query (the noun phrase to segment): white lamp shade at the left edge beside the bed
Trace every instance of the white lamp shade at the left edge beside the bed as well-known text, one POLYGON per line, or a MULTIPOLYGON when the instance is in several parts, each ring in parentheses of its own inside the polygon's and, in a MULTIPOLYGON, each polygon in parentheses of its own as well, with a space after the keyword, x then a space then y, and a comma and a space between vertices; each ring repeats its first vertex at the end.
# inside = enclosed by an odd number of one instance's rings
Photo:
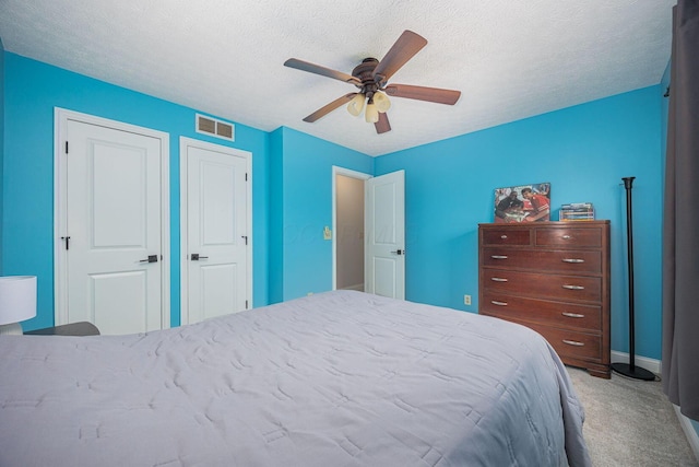
POLYGON ((0 325, 36 316, 36 276, 0 277, 0 325))

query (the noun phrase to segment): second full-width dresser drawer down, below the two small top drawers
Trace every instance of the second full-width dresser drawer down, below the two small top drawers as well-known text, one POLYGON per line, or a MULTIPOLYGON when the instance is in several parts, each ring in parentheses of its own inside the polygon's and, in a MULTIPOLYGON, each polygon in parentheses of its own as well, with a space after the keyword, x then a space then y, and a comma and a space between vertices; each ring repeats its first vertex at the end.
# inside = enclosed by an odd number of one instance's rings
POLYGON ((583 276, 540 275, 503 269, 483 269, 485 291, 499 291, 513 295, 548 297, 600 303, 602 278, 583 276))

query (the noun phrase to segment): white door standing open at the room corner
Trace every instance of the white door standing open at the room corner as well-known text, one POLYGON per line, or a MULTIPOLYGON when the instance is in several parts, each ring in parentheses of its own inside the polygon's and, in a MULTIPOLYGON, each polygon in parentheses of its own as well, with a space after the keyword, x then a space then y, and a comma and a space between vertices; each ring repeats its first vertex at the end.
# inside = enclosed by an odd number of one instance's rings
POLYGON ((405 299, 405 171, 365 187, 365 291, 405 299))

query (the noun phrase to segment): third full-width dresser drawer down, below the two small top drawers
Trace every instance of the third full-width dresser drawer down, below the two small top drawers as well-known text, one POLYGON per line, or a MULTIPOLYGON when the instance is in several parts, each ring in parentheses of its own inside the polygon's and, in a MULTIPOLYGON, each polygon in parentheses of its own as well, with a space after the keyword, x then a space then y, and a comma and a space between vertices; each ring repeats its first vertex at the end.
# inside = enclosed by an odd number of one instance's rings
POLYGON ((528 299, 494 291, 483 293, 479 307, 486 314, 497 314, 505 319, 523 318, 589 332, 599 332, 602 319, 600 305, 528 299))

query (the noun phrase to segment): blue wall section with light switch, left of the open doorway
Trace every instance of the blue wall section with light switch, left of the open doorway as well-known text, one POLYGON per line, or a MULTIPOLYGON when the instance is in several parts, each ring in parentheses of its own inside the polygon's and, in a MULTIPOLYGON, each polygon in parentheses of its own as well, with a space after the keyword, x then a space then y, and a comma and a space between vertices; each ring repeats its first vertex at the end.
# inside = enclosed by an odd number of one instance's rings
POLYGON ((272 302, 332 289, 332 166, 374 173, 375 159, 347 148, 280 128, 272 136, 274 219, 272 302))

